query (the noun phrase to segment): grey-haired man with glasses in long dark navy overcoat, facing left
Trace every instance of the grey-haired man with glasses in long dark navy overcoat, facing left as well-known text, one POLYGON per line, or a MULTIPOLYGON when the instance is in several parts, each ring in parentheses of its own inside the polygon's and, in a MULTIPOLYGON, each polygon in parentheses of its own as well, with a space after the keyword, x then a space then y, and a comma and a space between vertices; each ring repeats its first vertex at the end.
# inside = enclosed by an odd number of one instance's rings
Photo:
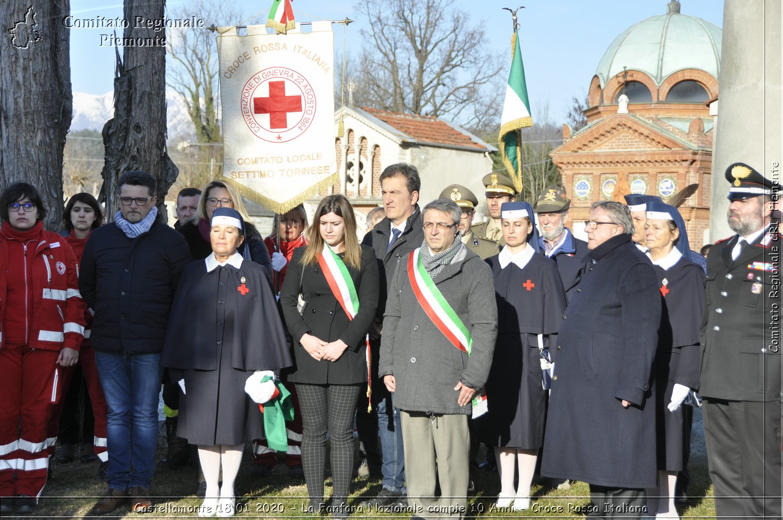
POLYGON ((563 313, 542 475, 590 484, 588 516, 640 517, 657 484, 655 392, 661 294, 618 202, 593 204, 590 253, 563 313))

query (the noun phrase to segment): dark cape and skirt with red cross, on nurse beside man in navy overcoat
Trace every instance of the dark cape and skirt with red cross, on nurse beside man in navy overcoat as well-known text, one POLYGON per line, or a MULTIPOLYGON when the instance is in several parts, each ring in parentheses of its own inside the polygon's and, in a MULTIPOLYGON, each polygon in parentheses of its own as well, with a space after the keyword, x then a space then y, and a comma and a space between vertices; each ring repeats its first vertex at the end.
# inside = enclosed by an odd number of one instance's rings
POLYGON ((537 253, 525 269, 514 263, 501 269, 498 255, 485 262, 495 280, 497 341, 486 384, 489 417, 482 428, 494 446, 536 449, 543 443, 547 410, 538 334, 545 347, 554 348, 565 309, 563 284, 557 265, 537 253))

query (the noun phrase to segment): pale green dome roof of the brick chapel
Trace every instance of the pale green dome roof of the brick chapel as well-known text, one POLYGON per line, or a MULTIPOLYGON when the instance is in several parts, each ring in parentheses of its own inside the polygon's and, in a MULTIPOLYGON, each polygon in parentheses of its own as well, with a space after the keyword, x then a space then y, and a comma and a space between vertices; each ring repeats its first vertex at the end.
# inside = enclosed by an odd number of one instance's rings
POLYGON ((666 10, 628 27, 609 45, 595 71, 601 88, 622 67, 644 71, 656 85, 681 69, 701 69, 718 78, 720 27, 680 14, 677 1, 669 2, 666 10))

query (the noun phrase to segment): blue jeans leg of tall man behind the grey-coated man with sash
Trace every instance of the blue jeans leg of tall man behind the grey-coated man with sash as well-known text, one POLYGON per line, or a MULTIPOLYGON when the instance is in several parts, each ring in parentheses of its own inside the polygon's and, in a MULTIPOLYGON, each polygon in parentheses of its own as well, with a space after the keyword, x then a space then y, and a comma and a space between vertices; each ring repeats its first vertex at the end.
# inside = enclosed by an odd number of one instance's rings
POLYGON ((394 407, 394 392, 378 403, 378 435, 381 437, 383 486, 388 491, 405 493, 405 452, 402 450, 402 426, 394 407))

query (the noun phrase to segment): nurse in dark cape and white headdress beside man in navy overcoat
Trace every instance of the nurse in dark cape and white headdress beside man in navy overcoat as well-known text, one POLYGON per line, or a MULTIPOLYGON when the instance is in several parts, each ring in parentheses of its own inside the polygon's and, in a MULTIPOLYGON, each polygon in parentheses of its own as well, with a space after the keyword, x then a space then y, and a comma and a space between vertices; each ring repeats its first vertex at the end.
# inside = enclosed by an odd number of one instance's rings
POLYGON ((486 260, 495 279, 498 327, 485 424, 494 430, 500 473, 496 507, 523 511, 530 507, 530 486, 543 446, 548 374, 543 374, 541 361, 550 361, 550 348, 554 350, 565 291, 557 264, 539 250, 532 206, 507 202, 500 211, 506 245, 486 260))

